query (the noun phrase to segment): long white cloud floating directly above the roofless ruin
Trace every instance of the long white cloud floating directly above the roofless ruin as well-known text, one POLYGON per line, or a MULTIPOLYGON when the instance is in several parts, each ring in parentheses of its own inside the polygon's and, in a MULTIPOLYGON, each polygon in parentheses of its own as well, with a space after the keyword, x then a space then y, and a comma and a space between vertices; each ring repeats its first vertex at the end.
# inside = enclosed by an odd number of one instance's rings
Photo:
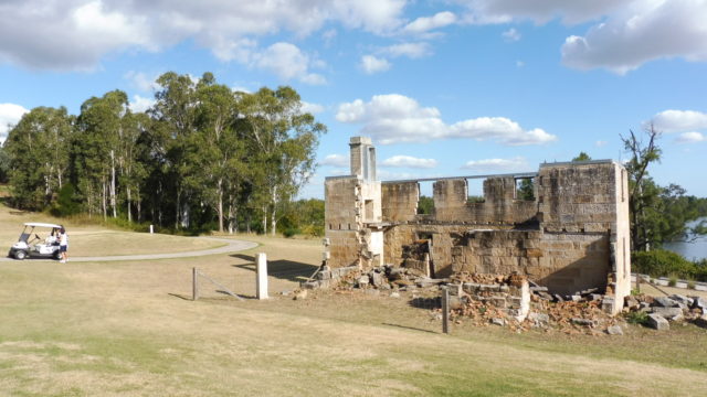
POLYGON ((369 103, 356 99, 341 104, 336 119, 362 124, 360 133, 374 137, 381 144, 452 138, 494 140, 506 146, 557 140, 556 136, 542 129, 525 130, 505 117, 479 117, 447 125, 436 108, 421 107, 416 100, 399 94, 376 95, 369 103))

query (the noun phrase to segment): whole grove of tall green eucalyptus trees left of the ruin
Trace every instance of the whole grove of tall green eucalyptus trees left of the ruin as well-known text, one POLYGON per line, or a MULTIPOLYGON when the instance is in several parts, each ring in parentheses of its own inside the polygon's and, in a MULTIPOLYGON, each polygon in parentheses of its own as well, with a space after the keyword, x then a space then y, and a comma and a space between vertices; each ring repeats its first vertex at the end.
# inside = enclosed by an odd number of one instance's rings
MULTIPOLYGON (((314 173, 326 127, 302 111, 291 87, 234 93, 211 73, 196 81, 168 72, 157 83, 145 114, 112 90, 84 101, 77 117, 42 107, 24 115, 0 149, 10 204, 66 215, 80 203, 104 222, 191 234, 226 226, 274 232, 300 205, 293 200, 314 173), (61 196, 66 183, 73 193, 61 196)), ((323 235, 320 206, 320 219, 305 205, 309 215, 291 228, 323 235)))

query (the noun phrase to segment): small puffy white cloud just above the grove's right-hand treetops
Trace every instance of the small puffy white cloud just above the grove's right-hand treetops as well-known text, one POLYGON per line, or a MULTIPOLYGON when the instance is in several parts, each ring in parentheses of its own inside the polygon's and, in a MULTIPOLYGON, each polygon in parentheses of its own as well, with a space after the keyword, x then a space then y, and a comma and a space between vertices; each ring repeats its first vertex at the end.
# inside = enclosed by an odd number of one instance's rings
POLYGON ((297 78, 303 83, 321 85, 326 83, 324 76, 310 73, 313 60, 291 43, 275 43, 260 54, 254 54, 253 64, 270 69, 282 79, 297 78))

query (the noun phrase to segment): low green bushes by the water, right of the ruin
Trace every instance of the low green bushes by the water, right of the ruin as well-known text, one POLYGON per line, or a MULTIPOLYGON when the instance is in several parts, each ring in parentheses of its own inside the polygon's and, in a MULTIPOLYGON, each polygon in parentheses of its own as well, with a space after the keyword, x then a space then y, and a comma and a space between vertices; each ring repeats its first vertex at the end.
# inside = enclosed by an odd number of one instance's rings
POLYGON ((692 262, 680 255, 664 249, 635 251, 631 255, 634 271, 651 277, 682 278, 707 281, 707 270, 700 262, 692 262))

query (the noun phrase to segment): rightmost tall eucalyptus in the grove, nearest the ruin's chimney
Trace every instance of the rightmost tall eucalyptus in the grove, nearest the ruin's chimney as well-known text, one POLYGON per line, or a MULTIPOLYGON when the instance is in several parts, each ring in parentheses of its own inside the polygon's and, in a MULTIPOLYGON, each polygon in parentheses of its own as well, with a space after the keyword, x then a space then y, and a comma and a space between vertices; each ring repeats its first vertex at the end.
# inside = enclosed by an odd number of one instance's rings
POLYGON ((255 149, 252 159, 262 168, 263 228, 275 234, 283 208, 296 196, 315 168, 315 151, 326 127, 302 111, 299 94, 291 87, 261 88, 244 95, 241 114, 255 149))

